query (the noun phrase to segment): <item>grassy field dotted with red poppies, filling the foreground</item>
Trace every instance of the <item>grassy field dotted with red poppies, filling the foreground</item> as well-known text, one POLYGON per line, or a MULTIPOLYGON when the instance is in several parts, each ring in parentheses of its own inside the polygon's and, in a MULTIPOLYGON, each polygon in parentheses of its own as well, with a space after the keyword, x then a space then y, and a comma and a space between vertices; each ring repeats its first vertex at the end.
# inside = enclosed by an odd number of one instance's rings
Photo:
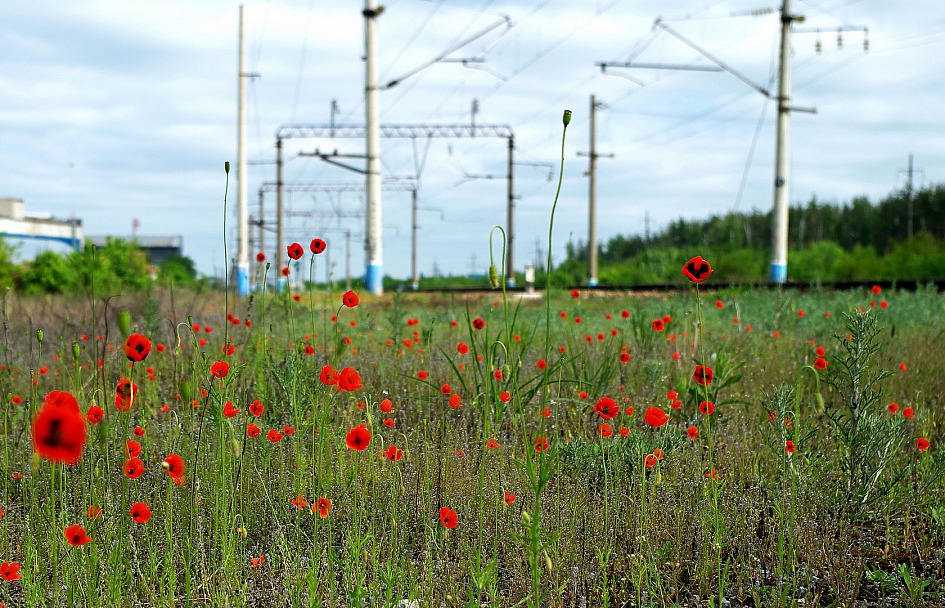
POLYGON ((945 301, 711 282, 9 296, 0 602, 941 604, 945 301))

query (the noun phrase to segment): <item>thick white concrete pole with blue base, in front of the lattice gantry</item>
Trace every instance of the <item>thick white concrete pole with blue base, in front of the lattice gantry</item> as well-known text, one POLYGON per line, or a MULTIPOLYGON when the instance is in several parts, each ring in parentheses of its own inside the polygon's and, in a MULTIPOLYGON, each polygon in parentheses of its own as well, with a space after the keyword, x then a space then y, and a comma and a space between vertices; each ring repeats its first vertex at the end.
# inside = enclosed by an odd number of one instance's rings
POLYGON ((377 95, 377 17, 383 8, 374 0, 364 0, 364 124, 367 140, 367 226, 364 253, 367 269, 364 283, 368 291, 384 293, 383 252, 381 241, 381 135, 377 95))

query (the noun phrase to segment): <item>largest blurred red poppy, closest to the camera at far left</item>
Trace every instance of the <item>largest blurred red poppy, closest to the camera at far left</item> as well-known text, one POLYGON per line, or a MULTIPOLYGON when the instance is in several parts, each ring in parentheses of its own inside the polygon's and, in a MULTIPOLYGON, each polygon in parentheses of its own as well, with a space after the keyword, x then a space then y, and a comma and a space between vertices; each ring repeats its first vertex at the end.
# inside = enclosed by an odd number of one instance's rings
POLYGON ((87 430, 75 397, 52 391, 33 419, 33 449, 51 462, 76 464, 85 449, 87 430))

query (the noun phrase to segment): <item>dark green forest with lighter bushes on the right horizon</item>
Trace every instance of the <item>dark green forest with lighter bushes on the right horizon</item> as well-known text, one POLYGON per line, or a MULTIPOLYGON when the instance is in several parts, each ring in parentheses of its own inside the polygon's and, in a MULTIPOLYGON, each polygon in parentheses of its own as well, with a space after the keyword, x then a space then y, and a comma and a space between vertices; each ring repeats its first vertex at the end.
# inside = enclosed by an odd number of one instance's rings
MULTIPOLYGON (((765 282, 771 211, 678 219, 658 233, 617 236, 598 249, 601 285, 676 283, 679 260, 699 254, 727 282, 765 282)), ((945 277, 945 186, 899 191, 878 203, 816 198, 789 211, 788 279, 795 282, 945 277), (911 227, 910 227, 911 209, 911 227)), ((568 247, 558 284, 587 282, 587 243, 568 247)))

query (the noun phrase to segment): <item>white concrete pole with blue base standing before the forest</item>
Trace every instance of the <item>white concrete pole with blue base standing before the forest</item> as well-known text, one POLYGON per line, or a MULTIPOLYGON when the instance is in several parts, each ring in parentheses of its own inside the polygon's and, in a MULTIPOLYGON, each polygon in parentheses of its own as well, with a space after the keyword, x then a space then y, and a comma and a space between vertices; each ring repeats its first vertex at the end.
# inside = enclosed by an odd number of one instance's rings
POLYGON ((791 170, 791 0, 781 5, 781 59, 778 70, 778 130, 774 154, 774 213, 771 227, 772 283, 787 281, 788 179, 791 170))

